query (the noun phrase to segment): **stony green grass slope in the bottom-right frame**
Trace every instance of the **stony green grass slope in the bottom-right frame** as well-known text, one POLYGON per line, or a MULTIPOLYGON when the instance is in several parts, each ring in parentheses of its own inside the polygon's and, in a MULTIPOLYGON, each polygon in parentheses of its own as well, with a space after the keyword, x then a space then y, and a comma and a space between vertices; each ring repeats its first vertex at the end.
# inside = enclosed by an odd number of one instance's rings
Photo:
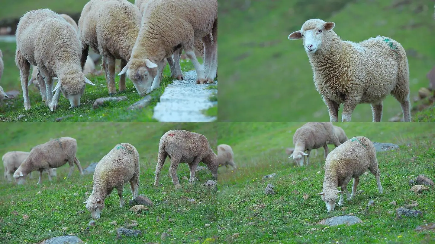
MULTIPOLYGON (((434 179, 435 130, 431 123, 348 123, 336 125, 345 129, 349 138, 364 135, 373 141, 400 145, 392 152, 377 154, 384 194, 379 194, 375 177, 361 176, 357 194, 346 201, 348 209, 327 214, 320 196, 323 185, 323 150, 314 152, 310 165, 294 166, 285 154, 292 147, 292 135, 303 123, 219 123, 218 144, 229 144, 235 154, 237 171, 219 172, 221 202, 219 237, 223 243, 433 243, 435 232, 416 233, 413 229, 433 222, 435 218, 434 189, 416 196, 408 191, 408 180, 425 174, 434 179), (409 144, 409 146, 408 146, 409 144), (418 158, 411 161, 412 156, 418 158), (318 171, 321 173, 316 174, 318 171), (277 177, 261 182, 261 177, 276 173, 277 177), (264 195, 268 183, 276 195, 264 195), (297 190, 299 193, 294 193, 297 190), (304 200, 302 196, 308 194, 304 200), (369 200, 375 206, 366 208, 369 200), (388 204, 397 201, 398 206, 388 204), (396 220, 388 211, 410 201, 423 218, 396 220), (257 207, 253 205, 257 204, 257 207), (264 204, 264 205, 261 205, 264 204), (263 207, 263 208, 261 208, 263 207), (365 224, 325 228, 317 222, 335 215, 353 213, 365 224), (316 228, 318 230, 311 230, 316 228), (324 229, 324 230, 322 230, 324 229), (232 237, 240 233, 239 237, 232 237), (410 241, 412 240, 412 241, 410 241)), ((330 147, 330 152, 334 147, 330 147)), ((348 189, 351 188, 351 183, 348 189)))

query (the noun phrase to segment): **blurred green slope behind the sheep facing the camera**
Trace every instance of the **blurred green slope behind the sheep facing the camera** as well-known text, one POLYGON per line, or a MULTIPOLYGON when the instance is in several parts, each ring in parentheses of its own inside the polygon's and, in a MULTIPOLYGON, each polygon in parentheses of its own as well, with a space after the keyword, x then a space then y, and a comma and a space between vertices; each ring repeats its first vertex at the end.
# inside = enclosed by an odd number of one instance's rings
MULTIPOLYGON (((416 96, 420 87, 427 87, 425 76, 435 63, 435 43, 420 44, 434 38, 433 1, 415 0, 401 7, 389 7, 396 2, 221 3, 219 42, 225 55, 221 55, 224 83, 220 88, 219 120, 328 121, 328 111, 313 84, 302 41, 287 39, 310 18, 334 21, 334 30, 343 40, 359 42, 377 35, 397 40, 408 51, 411 97, 416 96), (250 7, 244 8, 244 3, 250 3, 250 7)), ((384 108, 384 121, 401 112, 392 96, 387 97, 384 108)), ((371 121, 370 105, 357 106, 352 121, 371 121)))

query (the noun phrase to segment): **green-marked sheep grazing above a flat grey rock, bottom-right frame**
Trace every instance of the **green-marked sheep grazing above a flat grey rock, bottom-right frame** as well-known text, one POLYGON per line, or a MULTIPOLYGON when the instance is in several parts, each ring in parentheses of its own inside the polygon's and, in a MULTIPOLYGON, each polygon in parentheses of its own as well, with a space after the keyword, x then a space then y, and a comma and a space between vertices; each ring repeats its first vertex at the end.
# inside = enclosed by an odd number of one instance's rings
POLYGON ((381 174, 376 159, 375 146, 368 138, 364 136, 352 137, 331 151, 326 157, 323 191, 318 193, 325 202, 328 212, 334 210, 338 193, 341 193, 338 206, 343 205, 343 192, 346 193, 348 200, 355 197, 359 177, 367 170, 375 175, 378 191, 382 194, 381 174), (354 179, 352 195, 347 190, 351 178, 354 179), (341 187, 341 191, 337 190, 338 186, 341 187))

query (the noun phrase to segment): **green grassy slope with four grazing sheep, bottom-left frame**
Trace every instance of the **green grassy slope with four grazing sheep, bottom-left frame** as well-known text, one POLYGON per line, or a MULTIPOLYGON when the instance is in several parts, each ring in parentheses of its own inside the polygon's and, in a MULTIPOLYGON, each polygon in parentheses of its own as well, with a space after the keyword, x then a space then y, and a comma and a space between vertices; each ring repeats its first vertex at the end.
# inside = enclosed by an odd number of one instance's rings
MULTIPOLYGON (((187 129, 204 134, 212 148, 216 150, 217 138, 214 123, 5 123, 3 136, 0 138, 0 155, 13 150, 27 151, 34 145, 46 142, 50 138, 71 136, 77 139, 77 158, 83 168, 91 162, 98 162, 116 144, 129 142, 134 145, 140 155, 141 177, 139 194, 149 197, 154 204, 169 200, 169 204, 155 205, 146 214, 137 217, 128 208, 119 208, 119 198, 115 193, 106 198, 101 218, 97 225, 89 230, 87 224, 91 220, 90 213, 86 211, 84 202, 86 191, 92 192, 92 175, 80 176, 77 168, 73 177, 65 179, 68 167, 62 166, 57 170, 57 178, 50 182, 44 175, 43 185, 36 185, 37 178, 27 180, 26 185, 13 185, 1 181, 0 184, 0 243, 37 243, 41 240, 74 233, 87 243, 114 243, 115 230, 124 221, 136 220, 139 224, 135 229, 144 232, 142 237, 125 238, 117 243, 141 243, 141 240, 159 242, 160 235, 156 232, 173 232, 167 241, 175 240, 193 243, 217 234, 214 221, 216 216, 216 194, 204 191, 200 187, 188 187, 187 181, 181 177, 189 176, 186 164, 180 164, 178 176, 184 191, 174 191, 167 172, 169 159, 164 165, 161 174, 163 188, 157 190, 152 187, 154 182, 154 169, 157 161, 158 142, 161 135, 169 129, 187 129), (40 191, 40 194, 37 192, 40 191), (162 192, 167 192, 163 195, 162 192), (74 193, 78 196, 74 196, 74 193), (186 198, 194 198, 195 204, 189 203, 186 198), (202 202, 199 204, 199 202, 202 202), (205 204, 205 206, 204 206, 205 204), (186 208, 188 211, 184 211, 186 208), (84 214, 77 214, 85 210, 84 214), (16 211, 17 216, 12 212, 16 211), (23 214, 30 216, 23 220, 23 214), (169 218, 176 222, 168 222, 169 218), (157 222, 157 219, 160 221, 157 222), (108 223, 117 221, 114 227, 108 223), (211 224, 205 228, 204 224, 211 224), (68 227, 68 231, 61 228, 68 227), (195 231, 194 228, 199 229, 195 231), (50 231, 50 232, 49 232, 50 231)), ((202 165, 202 163, 201 163, 202 165)), ((3 167, 0 168, 3 172, 3 167)), ((2 173, 3 174, 3 173, 2 173)), ((34 174, 37 175, 37 174, 34 174)), ((197 174, 200 183, 211 178, 210 173, 197 174)), ((130 186, 124 187, 124 200, 131 199, 130 186)))

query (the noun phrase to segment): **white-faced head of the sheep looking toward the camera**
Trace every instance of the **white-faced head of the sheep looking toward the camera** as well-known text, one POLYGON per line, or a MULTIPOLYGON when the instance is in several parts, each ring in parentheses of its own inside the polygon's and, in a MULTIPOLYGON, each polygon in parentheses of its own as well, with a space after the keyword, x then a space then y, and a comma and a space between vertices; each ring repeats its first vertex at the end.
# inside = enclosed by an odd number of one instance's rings
POLYGON ((307 53, 315 53, 322 46, 325 33, 332 31, 334 22, 325 22, 319 19, 305 21, 301 30, 295 31, 288 36, 289 40, 301 39, 304 43, 304 49, 307 53))

